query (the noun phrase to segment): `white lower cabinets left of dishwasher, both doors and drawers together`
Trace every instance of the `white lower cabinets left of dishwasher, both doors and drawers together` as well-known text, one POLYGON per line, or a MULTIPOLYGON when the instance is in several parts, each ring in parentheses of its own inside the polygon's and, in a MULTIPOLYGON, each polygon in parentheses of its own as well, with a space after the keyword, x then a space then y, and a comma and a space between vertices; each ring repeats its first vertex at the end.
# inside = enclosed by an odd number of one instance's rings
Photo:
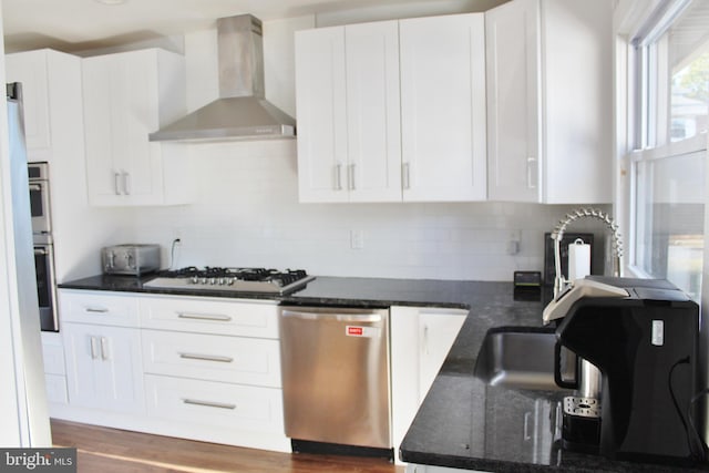
POLYGON ((59 300, 69 389, 53 418, 290 451, 276 301, 71 289, 59 300))

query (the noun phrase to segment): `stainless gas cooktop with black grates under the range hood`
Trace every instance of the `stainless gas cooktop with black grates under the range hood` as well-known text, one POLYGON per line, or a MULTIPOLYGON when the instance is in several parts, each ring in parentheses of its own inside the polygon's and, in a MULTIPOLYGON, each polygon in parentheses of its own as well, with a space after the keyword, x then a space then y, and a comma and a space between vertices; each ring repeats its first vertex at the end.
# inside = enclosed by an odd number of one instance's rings
POLYGON ((285 295, 301 288, 315 276, 302 269, 279 271, 266 268, 196 268, 157 271, 143 287, 191 290, 230 290, 285 295))

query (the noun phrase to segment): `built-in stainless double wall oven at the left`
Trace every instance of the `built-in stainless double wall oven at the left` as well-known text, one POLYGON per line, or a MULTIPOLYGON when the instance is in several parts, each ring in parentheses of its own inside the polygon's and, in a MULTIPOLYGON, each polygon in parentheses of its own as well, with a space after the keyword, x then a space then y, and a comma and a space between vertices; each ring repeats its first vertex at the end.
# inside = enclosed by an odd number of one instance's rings
POLYGON ((32 216, 34 275, 40 309, 40 327, 42 331, 59 331, 49 164, 29 163, 27 169, 30 188, 30 214, 32 216))

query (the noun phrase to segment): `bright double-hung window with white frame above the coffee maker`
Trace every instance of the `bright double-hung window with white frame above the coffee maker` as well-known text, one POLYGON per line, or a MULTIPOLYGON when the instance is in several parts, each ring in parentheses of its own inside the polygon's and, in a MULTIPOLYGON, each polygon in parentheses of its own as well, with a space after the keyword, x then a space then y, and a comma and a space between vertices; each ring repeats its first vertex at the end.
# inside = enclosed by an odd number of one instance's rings
POLYGON ((631 40, 630 264, 695 300, 705 254, 709 2, 662 0, 631 40))

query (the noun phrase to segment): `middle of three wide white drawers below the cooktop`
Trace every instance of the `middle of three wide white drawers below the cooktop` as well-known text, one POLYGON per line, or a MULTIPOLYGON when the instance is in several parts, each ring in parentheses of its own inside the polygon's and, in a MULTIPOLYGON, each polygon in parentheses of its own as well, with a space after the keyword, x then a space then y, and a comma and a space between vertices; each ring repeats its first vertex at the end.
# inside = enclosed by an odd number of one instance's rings
POLYGON ((143 330, 146 373, 280 387, 278 340, 143 330))

